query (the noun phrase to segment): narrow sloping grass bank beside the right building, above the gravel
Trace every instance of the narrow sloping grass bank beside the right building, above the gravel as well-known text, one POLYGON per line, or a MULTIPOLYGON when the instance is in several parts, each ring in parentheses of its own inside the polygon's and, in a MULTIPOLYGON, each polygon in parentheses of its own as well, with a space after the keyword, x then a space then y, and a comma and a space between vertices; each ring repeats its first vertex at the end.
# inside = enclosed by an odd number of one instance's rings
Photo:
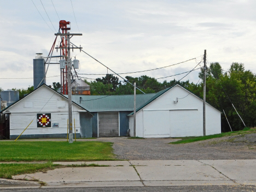
POLYGON ((216 135, 208 135, 208 136, 200 136, 200 137, 180 137, 181 140, 176 142, 171 142, 170 144, 182 144, 182 143, 191 143, 196 141, 203 141, 206 139, 211 138, 218 138, 218 137, 224 137, 224 136, 231 136, 231 135, 240 135, 240 134, 247 134, 247 133, 253 133, 256 132, 256 129, 244 129, 242 131, 232 131, 232 132, 225 132, 220 133, 216 135))

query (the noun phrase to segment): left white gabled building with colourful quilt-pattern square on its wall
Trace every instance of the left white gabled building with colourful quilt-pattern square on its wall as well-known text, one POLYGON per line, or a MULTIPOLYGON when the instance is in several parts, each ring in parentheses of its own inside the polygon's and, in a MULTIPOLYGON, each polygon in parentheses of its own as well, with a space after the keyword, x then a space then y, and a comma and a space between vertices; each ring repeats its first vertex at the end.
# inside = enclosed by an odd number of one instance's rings
MULTIPOLYGON (((80 137, 79 113, 92 114, 76 103, 72 104, 72 112, 73 133, 76 131, 80 137)), ((68 99, 45 84, 2 113, 8 117, 10 139, 16 139, 28 125, 20 138, 67 137, 68 99), (45 118, 41 120, 40 116, 45 118)))

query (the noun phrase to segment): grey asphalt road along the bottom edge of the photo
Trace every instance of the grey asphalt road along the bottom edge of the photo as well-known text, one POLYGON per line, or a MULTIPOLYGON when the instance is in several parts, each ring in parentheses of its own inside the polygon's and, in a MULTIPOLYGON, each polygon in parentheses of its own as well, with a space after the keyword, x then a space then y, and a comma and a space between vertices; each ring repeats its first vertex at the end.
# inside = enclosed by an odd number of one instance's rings
POLYGON ((102 192, 102 191, 158 191, 158 192, 165 192, 165 191, 211 191, 211 192, 220 192, 220 191, 228 191, 228 192, 237 192, 237 191, 256 191, 256 187, 252 185, 241 185, 241 186, 177 186, 177 187, 104 187, 104 188, 50 188, 50 189, 2 189, 1 192, 102 192))

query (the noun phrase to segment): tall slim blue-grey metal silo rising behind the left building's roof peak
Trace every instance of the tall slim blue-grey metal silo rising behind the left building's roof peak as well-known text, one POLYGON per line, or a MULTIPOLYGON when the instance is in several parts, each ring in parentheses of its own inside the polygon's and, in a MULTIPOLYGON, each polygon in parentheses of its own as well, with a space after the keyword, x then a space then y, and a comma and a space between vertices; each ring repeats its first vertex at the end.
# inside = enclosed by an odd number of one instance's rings
POLYGON ((42 56, 41 53, 37 53, 36 59, 33 59, 33 67, 34 67, 34 90, 35 90, 35 89, 37 89, 39 84, 43 85, 45 83, 44 57, 42 56))

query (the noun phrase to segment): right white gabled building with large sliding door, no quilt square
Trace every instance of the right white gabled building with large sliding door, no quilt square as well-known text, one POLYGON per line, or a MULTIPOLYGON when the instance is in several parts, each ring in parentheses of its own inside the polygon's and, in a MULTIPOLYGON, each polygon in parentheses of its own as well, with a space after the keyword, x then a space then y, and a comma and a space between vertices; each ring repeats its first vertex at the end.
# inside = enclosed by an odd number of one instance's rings
MULTIPOLYGON (((221 133, 221 112, 206 103, 206 135, 221 133)), ((133 113, 129 114, 133 136, 133 113)), ((203 101, 180 85, 158 92, 136 109, 137 137, 203 135, 203 101)))

